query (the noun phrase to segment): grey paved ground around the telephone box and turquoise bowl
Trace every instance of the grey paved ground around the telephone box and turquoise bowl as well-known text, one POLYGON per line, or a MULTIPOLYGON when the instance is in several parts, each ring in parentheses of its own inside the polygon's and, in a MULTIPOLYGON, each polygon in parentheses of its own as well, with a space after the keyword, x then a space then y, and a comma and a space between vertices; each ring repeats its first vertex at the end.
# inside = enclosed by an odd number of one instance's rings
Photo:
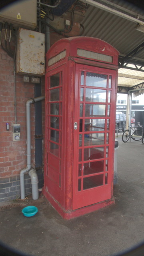
MULTIPOLYGON (((0 204, 0 239, 34 256, 108 256, 144 240, 144 145, 123 143, 118 148, 115 204, 72 220, 63 220, 40 196, 0 204), (26 218, 28 205, 38 213, 26 218)), ((144 255, 144 254, 141 254, 144 255)))

